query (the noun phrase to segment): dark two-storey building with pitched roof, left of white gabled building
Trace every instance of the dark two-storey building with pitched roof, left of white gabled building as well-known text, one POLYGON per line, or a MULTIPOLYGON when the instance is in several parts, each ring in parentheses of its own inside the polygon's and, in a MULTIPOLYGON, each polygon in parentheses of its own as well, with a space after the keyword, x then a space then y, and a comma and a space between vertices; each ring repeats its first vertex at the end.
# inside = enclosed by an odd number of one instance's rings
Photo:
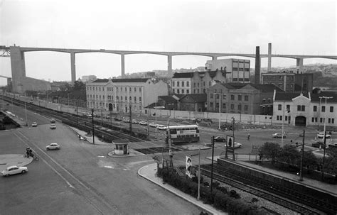
POLYGON ((273 84, 216 83, 207 91, 207 111, 272 115, 273 84))

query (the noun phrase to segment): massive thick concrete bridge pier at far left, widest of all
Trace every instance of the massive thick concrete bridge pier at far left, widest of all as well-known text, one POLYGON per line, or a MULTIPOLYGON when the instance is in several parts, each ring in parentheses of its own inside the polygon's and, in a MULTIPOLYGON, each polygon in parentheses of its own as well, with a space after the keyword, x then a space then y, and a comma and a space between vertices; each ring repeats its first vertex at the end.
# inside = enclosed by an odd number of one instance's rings
POLYGON ((11 77, 13 92, 22 92, 21 77, 26 77, 25 53, 20 46, 11 46, 11 77))

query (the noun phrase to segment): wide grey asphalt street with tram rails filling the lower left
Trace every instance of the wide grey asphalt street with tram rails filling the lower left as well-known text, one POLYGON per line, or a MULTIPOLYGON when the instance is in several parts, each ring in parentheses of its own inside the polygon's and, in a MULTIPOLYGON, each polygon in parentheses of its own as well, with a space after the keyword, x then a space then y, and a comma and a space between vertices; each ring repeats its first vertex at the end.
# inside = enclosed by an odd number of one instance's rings
MULTIPOLYGON (((14 113, 16 107, 9 106, 14 113)), ((24 112, 21 110, 21 113, 24 112)), ((16 113, 17 114, 17 113, 16 113)), ((67 126, 27 111, 37 128, 0 132, 1 154, 33 148, 28 174, 1 177, 0 214, 199 214, 200 209, 137 175, 151 155, 111 158, 111 145, 78 140, 67 126), (46 151, 49 143, 60 150, 46 151)), ((21 116, 20 116, 21 117, 21 116)))

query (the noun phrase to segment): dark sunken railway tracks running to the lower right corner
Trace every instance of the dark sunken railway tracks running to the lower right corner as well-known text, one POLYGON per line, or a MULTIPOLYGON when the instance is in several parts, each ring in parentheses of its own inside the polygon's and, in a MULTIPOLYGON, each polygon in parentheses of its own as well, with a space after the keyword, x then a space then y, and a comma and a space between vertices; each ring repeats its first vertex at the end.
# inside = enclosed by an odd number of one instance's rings
MULTIPOLYGON (((203 165, 203 175, 210 177, 210 165, 203 165)), ((307 194, 296 192, 262 178, 252 177, 243 172, 220 165, 213 167, 213 178, 225 182, 245 192, 255 194, 276 204, 301 214, 336 214, 337 205, 330 204, 307 194)))

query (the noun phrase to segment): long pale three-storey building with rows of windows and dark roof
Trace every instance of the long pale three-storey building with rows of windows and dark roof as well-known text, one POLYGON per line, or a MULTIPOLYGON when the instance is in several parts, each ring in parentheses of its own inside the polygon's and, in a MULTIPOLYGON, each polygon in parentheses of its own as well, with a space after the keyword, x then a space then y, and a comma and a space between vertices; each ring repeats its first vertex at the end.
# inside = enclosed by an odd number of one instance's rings
POLYGON ((145 106, 169 94, 165 82, 149 78, 96 79, 86 84, 87 107, 104 111, 142 112, 145 106))

